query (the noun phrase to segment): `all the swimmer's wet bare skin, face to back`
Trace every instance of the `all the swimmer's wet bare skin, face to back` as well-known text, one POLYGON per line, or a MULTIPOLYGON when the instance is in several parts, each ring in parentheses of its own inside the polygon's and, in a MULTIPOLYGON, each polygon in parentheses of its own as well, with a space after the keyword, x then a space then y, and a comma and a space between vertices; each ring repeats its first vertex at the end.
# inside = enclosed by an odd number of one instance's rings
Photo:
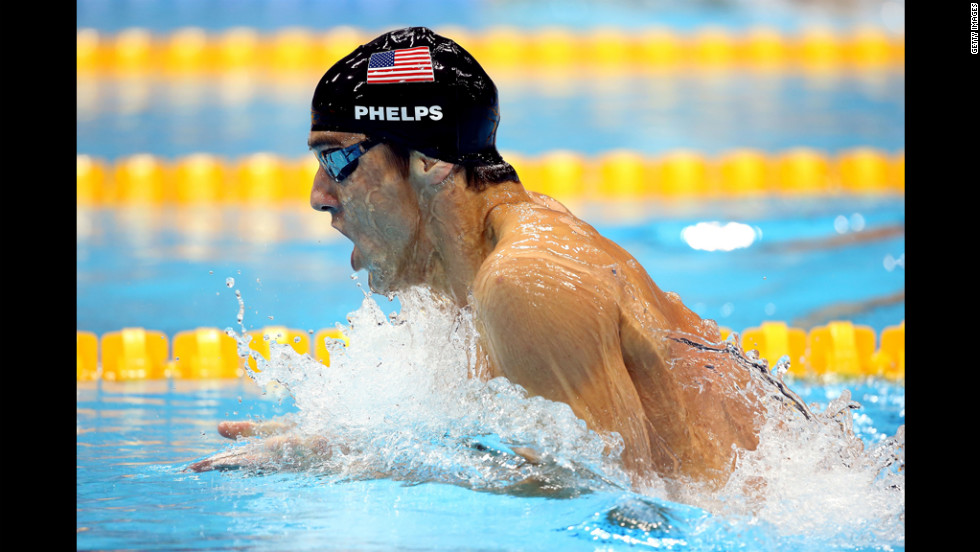
MULTIPOLYGON (((363 138, 314 132, 310 146, 363 138)), ((618 432, 637 478, 719 484, 733 445, 757 446, 763 410, 748 372, 697 346, 720 340, 717 325, 557 201, 518 182, 468 188, 461 167, 418 152, 406 173, 380 145, 342 183, 320 168, 310 202, 354 243, 351 264, 368 271, 372 290, 427 285, 470 306, 481 377, 505 376, 567 403, 592 429, 618 432)))

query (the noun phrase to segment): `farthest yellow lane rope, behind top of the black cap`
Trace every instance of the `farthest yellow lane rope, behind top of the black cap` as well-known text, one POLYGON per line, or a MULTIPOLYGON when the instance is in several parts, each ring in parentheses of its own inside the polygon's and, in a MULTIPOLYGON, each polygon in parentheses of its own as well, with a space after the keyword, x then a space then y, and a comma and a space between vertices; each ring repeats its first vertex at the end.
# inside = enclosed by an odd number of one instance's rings
MULTIPOLYGON (((508 70, 599 70, 636 73, 676 68, 781 71, 904 69, 905 37, 878 27, 848 31, 811 27, 786 33, 768 27, 690 32, 651 28, 497 26, 433 29, 466 48, 491 73, 508 70)), ((161 75, 270 71, 313 78, 382 31, 289 27, 259 32, 238 27, 208 32, 185 27, 165 33, 129 28, 117 33, 76 30, 79 74, 161 75)))

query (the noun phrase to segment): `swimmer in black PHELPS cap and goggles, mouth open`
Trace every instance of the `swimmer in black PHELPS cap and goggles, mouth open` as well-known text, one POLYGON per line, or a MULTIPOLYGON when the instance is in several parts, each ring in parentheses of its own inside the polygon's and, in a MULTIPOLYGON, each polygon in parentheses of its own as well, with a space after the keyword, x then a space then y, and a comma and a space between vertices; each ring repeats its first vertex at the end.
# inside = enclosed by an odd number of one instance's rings
MULTIPOLYGON (((353 242, 351 265, 372 291, 424 285, 471 309, 484 377, 618 432, 635 478, 722 484, 737 451, 758 444, 764 409, 748 370, 717 346, 713 321, 527 190, 496 149, 499 121, 496 87, 458 44, 426 28, 386 33, 314 92, 310 203, 353 242)), ((272 435, 270 449, 282 429, 219 427, 229 438, 272 435)), ((256 464, 242 454, 190 469, 256 464)))

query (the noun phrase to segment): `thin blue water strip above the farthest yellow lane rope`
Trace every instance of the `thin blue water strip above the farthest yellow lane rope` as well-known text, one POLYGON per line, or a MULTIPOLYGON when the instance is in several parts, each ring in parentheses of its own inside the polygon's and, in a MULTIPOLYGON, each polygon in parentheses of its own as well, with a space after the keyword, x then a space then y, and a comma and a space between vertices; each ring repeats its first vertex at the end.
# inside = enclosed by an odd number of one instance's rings
POLYGON ((904 28, 904 1, 839 2, 838 9, 767 0, 79 0, 79 27, 118 31, 139 26, 168 30, 196 26, 261 30, 353 25, 367 29, 425 24, 483 29, 509 25, 535 29, 597 25, 678 30, 705 25, 748 28, 766 25, 797 30, 815 24, 848 29, 874 24, 904 28), (902 8, 901 10, 897 8, 902 8))

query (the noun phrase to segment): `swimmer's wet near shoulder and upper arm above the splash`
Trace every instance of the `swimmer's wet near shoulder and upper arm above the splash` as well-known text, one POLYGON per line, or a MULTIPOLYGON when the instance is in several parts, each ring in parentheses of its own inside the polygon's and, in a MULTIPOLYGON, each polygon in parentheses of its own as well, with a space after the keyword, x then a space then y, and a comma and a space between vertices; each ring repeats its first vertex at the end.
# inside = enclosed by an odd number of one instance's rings
POLYGON ((642 405, 622 357, 619 309, 604 284, 545 257, 501 255, 474 282, 481 335, 495 376, 568 404, 592 429, 618 425, 634 433, 627 441, 642 442, 637 424, 616 420, 636 418, 642 405))

